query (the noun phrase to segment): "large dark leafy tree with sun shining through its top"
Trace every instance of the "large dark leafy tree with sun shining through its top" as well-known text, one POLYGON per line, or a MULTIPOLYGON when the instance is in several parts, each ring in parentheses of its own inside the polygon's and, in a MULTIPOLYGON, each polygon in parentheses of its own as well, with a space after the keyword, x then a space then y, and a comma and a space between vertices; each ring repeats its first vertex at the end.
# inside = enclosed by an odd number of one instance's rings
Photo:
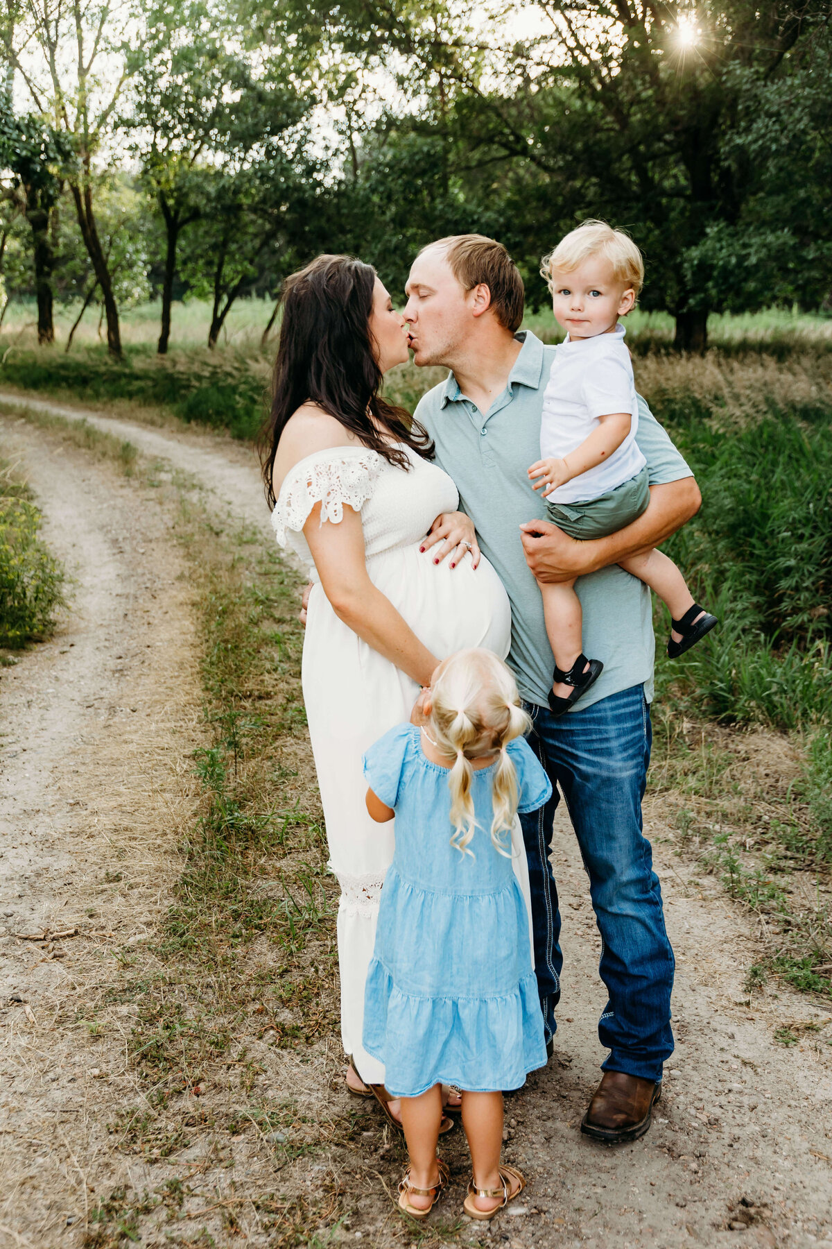
MULTIPOLYGON (((329 6, 303 7, 326 25, 329 6)), ((410 126, 445 145, 465 200, 489 192, 533 301, 538 257, 602 216, 646 252, 645 306, 674 313, 677 347, 704 350, 707 313, 725 306, 727 241, 748 257, 733 306, 755 304, 755 270, 782 256, 782 234, 748 235, 772 170, 745 142, 748 101, 828 40, 827 0, 530 0, 523 12, 518 35, 518 10, 499 0, 478 6, 476 24, 459 0, 346 0, 326 37, 363 65, 397 67, 410 126)))

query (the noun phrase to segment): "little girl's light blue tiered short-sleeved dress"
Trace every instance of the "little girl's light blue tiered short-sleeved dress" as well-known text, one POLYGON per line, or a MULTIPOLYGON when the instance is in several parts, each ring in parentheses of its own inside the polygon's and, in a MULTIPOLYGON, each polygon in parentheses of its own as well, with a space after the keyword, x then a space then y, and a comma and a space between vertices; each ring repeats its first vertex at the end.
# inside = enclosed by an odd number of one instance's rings
MULTIPOLYGON (((508 751, 519 809, 536 811, 549 778, 523 738, 508 751)), ((448 771, 425 758, 413 724, 364 756, 368 786, 395 811, 364 994, 364 1048, 384 1063, 394 1097, 434 1084, 515 1089, 546 1063, 525 902, 511 859, 491 843, 496 763, 474 772, 473 858, 450 844, 448 771)))

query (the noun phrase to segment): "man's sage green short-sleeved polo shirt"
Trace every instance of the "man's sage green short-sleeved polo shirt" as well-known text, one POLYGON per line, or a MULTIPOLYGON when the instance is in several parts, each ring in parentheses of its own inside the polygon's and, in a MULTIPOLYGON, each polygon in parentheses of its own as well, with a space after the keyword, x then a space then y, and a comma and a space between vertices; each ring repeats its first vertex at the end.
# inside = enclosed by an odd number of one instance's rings
MULTIPOLYGON (((526 471, 540 458, 543 395, 556 348, 544 346, 530 331, 516 337, 523 348, 506 388, 486 416, 465 398, 450 373, 422 397, 415 417, 434 440, 437 463, 457 483, 483 555, 508 591, 509 664, 520 696, 545 707, 554 659, 519 526, 546 516, 545 501, 531 490, 526 471)), ((651 486, 692 476, 640 396, 636 441, 647 461, 651 486)), ((655 656, 650 591, 617 565, 580 577, 575 588, 584 608, 584 653, 604 663, 579 709, 637 684, 644 684, 650 701, 655 656)))

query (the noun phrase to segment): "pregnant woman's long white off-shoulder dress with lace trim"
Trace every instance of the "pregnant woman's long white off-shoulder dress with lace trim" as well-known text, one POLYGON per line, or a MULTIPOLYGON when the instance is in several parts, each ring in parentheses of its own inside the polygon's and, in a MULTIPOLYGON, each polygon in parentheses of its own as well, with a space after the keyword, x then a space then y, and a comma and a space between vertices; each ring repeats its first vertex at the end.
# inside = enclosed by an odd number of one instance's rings
MULTIPOLYGON (((327 824, 329 866, 338 877, 338 960, 344 1050, 362 1078, 384 1080, 384 1068, 362 1045, 364 982, 373 954, 384 874, 393 858, 394 821, 367 813, 362 756, 410 717, 419 687, 338 620, 321 587, 302 530, 316 503, 321 523, 337 525, 346 506, 360 513, 367 571, 417 637, 439 659, 469 646, 508 654, 510 608, 503 585, 483 558, 452 568, 434 565, 419 543, 440 512, 459 506, 445 472, 402 445, 409 471, 363 446, 334 447, 301 460, 286 476, 272 523, 277 540, 307 565, 314 582, 303 643, 303 698, 327 824)), ((513 838, 518 876, 528 896, 521 837, 513 838)), ((418 950, 413 950, 418 958, 418 950)))

